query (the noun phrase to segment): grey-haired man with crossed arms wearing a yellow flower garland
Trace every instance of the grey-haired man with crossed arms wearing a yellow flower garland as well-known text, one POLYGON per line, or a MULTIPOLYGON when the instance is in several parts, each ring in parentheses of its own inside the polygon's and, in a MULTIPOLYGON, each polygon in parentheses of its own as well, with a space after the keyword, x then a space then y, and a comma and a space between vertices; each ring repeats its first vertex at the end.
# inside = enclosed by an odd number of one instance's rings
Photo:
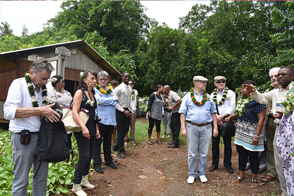
POLYGON ((102 160, 100 156, 102 139, 104 161, 106 165, 112 169, 118 168, 112 161, 113 159, 111 156, 111 137, 114 126, 116 125, 115 106, 118 103, 119 98, 116 97, 116 93, 114 89, 112 89, 112 86, 110 84, 107 85, 109 80, 109 74, 107 72, 99 72, 97 78, 99 85, 96 84, 96 87, 94 88, 94 96, 99 102, 96 109, 96 115, 101 119, 101 121, 97 122, 101 137, 98 139, 96 138, 93 153, 93 162, 96 172, 104 173, 101 167, 102 160))

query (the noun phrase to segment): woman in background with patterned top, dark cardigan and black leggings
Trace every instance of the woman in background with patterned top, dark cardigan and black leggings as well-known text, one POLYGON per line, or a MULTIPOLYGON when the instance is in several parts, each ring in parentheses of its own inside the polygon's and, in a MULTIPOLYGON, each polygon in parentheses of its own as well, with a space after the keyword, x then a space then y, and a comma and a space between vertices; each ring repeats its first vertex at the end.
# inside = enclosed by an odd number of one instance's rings
POLYGON ((157 133, 157 143, 162 144, 160 141, 160 124, 162 117, 164 116, 163 110, 163 98, 162 98, 162 90, 163 86, 158 84, 155 88, 155 92, 152 93, 148 100, 148 108, 147 108, 147 117, 149 119, 149 128, 148 128, 148 144, 152 144, 151 142, 151 134, 152 129, 154 127, 154 123, 156 126, 157 133))

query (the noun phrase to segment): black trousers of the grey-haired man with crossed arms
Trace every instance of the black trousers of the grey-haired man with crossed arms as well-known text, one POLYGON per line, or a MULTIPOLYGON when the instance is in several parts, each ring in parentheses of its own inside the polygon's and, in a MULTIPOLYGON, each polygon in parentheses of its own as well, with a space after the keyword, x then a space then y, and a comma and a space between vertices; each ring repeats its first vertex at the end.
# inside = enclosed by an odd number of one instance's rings
MULTIPOLYGON (((104 138, 103 139, 104 160, 106 164, 109 164, 113 160, 111 156, 111 137, 112 137, 114 126, 105 125, 102 123, 97 123, 97 125, 100 132, 100 136, 104 138)), ((95 147, 94 147, 94 153, 93 153, 94 167, 102 164, 102 159, 100 155, 102 138, 99 138, 99 139, 96 138, 96 141, 95 141, 95 147)))

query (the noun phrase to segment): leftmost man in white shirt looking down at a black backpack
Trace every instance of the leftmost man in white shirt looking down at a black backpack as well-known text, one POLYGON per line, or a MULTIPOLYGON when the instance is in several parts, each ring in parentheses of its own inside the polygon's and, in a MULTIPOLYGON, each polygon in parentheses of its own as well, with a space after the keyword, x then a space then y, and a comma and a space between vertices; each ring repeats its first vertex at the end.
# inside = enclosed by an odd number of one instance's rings
MULTIPOLYGON (((29 171, 32 164, 34 165, 33 173, 39 167, 40 162, 34 159, 34 153, 38 151, 37 133, 41 125, 40 115, 45 116, 50 122, 59 121, 60 116, 51 109, 55 103, 42 107, 49 101, 45 84, 47 84, 53 70, 54 68, 49 61, 40 57, 33 62, 25 77, 13 80, 9 87, 3 110, 4 118, 10 120, 9 130, 12 132, 14 179, 11 196, 27 196, 29 171), (30 142, 21 143, 22 131, 30 134, 30 142)), ((43 162, 32 182, 33 196, 46 196, 47 176, 48 163, 43 162)))

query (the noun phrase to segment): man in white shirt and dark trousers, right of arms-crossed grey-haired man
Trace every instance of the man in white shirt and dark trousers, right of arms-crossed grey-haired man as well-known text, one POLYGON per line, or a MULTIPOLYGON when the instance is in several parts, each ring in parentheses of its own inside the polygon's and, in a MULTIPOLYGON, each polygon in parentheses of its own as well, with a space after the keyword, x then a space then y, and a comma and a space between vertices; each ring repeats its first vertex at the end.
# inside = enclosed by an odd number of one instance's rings
POLYGON ((116 122, 118 127, 117 139, 112 147, 112 150, 120 150, 120 156, 125 158, 125 150, 123 145, 123 138, 129 131, 131 122, 131 115, 134 116, 135 107, 132 103, 131 87, 128 82, 130 81, 130 74, 123 73, 123 82, 115 88, 116 96, 119 98, 119 102, 116 104, 116 122))

